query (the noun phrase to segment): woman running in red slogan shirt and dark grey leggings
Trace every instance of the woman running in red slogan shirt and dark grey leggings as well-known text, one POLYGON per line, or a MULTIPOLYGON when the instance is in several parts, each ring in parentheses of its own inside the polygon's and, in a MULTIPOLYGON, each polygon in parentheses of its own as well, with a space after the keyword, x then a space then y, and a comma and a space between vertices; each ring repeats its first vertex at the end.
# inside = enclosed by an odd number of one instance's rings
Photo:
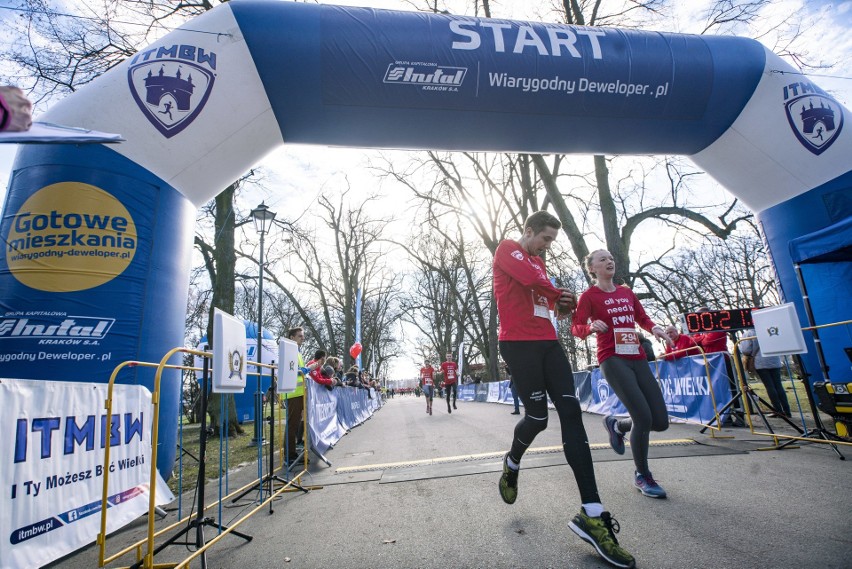
POLYGON ((630 419, 604 417, 609 444, 616 453, 624 454, 624 435, 629 432, 636 467, 633 484, 645 496, 665 498, 666 491, 648 469, 648 447, 651 431, 669 428, 669 415, 663 392, 639 347, 636 324, 669 346, 671 339, 645 314, 632 290, 612 281, 615 261, 609 251, 590 253, 586 271, 595 284, 580 295, 571 332, 579 338, 596 334, 601 372, 630 413, 630 419))

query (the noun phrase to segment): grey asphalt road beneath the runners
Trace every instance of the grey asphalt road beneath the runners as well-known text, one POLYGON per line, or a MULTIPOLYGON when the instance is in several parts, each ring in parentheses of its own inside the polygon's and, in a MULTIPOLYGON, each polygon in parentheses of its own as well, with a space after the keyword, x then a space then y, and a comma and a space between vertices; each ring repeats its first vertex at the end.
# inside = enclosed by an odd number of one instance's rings
MULTIPOLYGON (((224 536, 208 552, 207 567, 608 567, 568 530, 580 504, 555 412, 524 458, 518 501, 510 506, 500 500, 497 480, 517 417, 505 405, 458 406, 448 414, 436 400, 429 416, 422 398, 390 400, 329 451, 332 466, 312 457, 302 482, 321 489, 275 499, 273 513, 266 507, 240 524, 253 540, 224 536)), ((839 460, 827 445, 761 451, 772 439, 748 429, 725 429, 714 438, 695 425, 671 425, 652 433, 651 468, 669 494, 654 500, 632 486, 629 447, 616 455, 605 444, 601 418, 584 414, 584 422, 604 506, 619 521, 619 541, 637 567, 852 567, 852 460, 839 460)), ((852 447, 840 450, 852 455, 852 447)), ((231 489, 256 472, 249 465, 233 473, 231 489)), ((208 502, 216 492, 209 487, 208 502)), ((221 521, 235 523, 255 496, 229 502, 221 521)), ((188 502, 191 497, 184 507, 188 502)), ((218 519, 216 509, 208 514, 218 519)), ((176 519, 171 511, 158 524, 176 519)), ((143 517, 110 536, 108 553, 143 536, 144 524, 143 517)), ((212 539, 216 530, 205 535, 212 539)), ((173 545, 155 561, 189 555, 173 545)), ((127 557, 121 565, 132 562, 127 557)), ((50 567, 97 567, 97 548, 50 567)))

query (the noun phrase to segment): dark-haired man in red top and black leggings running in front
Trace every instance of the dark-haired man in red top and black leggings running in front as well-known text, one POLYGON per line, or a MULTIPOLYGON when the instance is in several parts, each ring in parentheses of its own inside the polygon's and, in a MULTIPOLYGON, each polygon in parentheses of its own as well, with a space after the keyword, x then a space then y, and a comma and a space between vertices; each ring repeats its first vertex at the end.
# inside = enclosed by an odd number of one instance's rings
POLYGON ((562 426, 562 447, 580 490, 582 507, 568 527, 616 567, 635 567, 618 545, 618 523, 604 511, 598 496, 592 453, 574 391, 571 364, 550 320, 550 309, 561 314, 575 307, 574 294, 554 287, 540 255, 550 248, 562 224, 538 211, 524 222, 518 241, 505 240, 494 253, 494 295, 500 317, 500 353, 509 366, 515 389, 524 403, 524 417, 515 426, 512 448, 503 457, 500 496, 507 504, 518 497, 521 458, 536 435, 547 427, 547 395, 562 426))

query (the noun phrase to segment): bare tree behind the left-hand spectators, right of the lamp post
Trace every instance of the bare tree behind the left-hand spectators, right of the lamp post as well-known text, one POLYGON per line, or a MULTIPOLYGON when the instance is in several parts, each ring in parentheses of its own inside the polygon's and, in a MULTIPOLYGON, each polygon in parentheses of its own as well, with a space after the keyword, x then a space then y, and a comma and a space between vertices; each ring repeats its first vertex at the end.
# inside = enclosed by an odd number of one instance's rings
POLYGON ((378 210, 379 197, 367 197, 353 207, 348 194, 347 189, 336 198, 321 195, 317 200, 321 213, 310 219, 319 227, 294 228, 290 242, 279 244, 266 274, 304 319, 317 345, 341 356, 345 366, 352 361, 349 347, 355 342, 360 290, 362 361, 375 356, 381 367, 397 350, 393 332, 400 316, 395 300, 400 276, 385 260, 383 232, 389 220, 369 213, 378 210), (301 299, 296 289, 305 291, 301 299))

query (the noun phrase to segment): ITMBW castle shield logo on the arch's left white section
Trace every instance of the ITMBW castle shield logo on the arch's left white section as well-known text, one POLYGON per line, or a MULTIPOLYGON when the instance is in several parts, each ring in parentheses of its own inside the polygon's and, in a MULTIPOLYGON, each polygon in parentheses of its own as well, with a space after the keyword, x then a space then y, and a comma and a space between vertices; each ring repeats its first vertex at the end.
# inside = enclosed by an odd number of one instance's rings
POLYGON ((216 80, 216 54, 194 45, 172 45, 137 54, 127 81, 145 118, 166 138, 192 124, 216 80))

